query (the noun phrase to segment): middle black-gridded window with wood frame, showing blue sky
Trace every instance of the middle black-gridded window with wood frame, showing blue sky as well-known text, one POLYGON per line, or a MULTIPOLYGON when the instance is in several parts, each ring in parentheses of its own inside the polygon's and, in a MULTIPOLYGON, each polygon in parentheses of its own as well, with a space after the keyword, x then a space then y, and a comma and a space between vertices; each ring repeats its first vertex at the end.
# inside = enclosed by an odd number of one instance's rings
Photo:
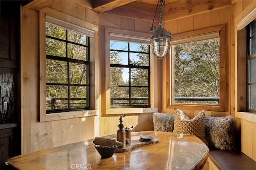
POLYGON ((102 115, 157 111, 156 57, 150 50, 150 34, 105 29, 106 95, 102 115))

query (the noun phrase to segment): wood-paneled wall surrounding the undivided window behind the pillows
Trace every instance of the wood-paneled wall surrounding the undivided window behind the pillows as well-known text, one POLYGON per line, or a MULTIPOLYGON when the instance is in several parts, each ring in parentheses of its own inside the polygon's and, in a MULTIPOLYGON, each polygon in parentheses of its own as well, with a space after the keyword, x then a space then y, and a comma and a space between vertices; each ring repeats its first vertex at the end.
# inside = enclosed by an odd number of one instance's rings
MULTIPOLYGON (((206 111, 209 116, 235 115, 234 109, 234 6, 228 6, 219 10, 208 11, 194 16, 188 16, 169 22, 164 22, 164 28, 172 34, 208 28, 211 26, 226 25, 226 111, 206 111)), ((166 78, 166 60, 163 60, 163 83, 162 83, 162 112, 174 113, 175 110, 167 109, 166 86, 169 85, 166 78)), ((180 107, 181 110, 182 107, 180 107)), ((190 118, 195 117, 199 111, 183 110, 190 118)))

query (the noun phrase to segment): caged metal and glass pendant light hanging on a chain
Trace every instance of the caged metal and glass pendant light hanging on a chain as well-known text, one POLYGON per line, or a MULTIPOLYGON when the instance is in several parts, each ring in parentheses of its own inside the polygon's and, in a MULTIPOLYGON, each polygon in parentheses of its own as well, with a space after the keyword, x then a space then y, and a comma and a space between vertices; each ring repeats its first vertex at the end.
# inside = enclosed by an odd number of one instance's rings
POLYGON ((166 57, 166 55, 169 54, 170 40, 172 40, 171 33, 163 28, 162 6, 165 6, 164 2, 165 0, 158 0, 158 3, 156 5, 156 10, 157 10, 158 4, 160 7, 159 27, 157 28, 156 26, 153 26, 156 12, 154 15, 152 26, 150 27, 150 32, 153 32, 152 36, 150 37, 152 52, 154 56, 157 58, 164 58, 166 57))

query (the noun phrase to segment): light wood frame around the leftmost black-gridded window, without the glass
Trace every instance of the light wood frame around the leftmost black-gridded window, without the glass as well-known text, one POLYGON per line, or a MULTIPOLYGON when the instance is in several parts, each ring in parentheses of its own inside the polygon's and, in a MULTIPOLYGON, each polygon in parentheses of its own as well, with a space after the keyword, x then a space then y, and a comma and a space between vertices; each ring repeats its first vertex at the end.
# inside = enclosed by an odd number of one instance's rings
MULTIPOLYGON (((54 21, 52 21, 54 22, 54 21)), ((51 23, 52 23, 51 22, 51 23)), ((98 26, 80 20, 78 18, 74 18, 72 16, 68 16, 67 14, 63 14, 61 12, 52 10, 50 8, 44 8, 39 12, 39 67, 40 67, 40 122, 45 121, 54 121, 54 120, 62 120, 62 119, 71 119, 76 117, 87 117, 87 116, 96 116, 97 108, 95 105, 96 101, 96 89, 98 89, 98 83, 95 79, 96 71, 95 71, 95 59, 96 52, 98 51, 98 41, 95 41, 98 35, 98 26), (81 32, 80 30, 86 30, 86 35, 90 36, 90 110, 79 110, 79 111, 68 111, 68 112, 58 112, 58 113, 48 113, 46 114, 46 34, 45 34, 45 25, 46 25, 46 17, 49 17, 50 20, 55 20, 56 25, 59 25, 64 28, 74 29, 77 32, 81 32), (61 24, 58 24, 60 22, 61 24), (63 26, 63 24, 66 24, 63 26), (74 28, 72 28, 74 27, 74 28), (95 37, 93 36, 95 35, 95 37)))

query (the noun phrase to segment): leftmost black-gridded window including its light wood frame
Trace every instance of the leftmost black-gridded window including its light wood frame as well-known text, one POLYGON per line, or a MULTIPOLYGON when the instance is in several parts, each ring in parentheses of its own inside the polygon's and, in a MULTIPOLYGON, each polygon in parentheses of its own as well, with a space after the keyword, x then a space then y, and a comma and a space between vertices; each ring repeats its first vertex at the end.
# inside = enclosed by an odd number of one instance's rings
POLYGON ((39 28, 40 122, 97 115, 98 26, 45 8, 39 28))

